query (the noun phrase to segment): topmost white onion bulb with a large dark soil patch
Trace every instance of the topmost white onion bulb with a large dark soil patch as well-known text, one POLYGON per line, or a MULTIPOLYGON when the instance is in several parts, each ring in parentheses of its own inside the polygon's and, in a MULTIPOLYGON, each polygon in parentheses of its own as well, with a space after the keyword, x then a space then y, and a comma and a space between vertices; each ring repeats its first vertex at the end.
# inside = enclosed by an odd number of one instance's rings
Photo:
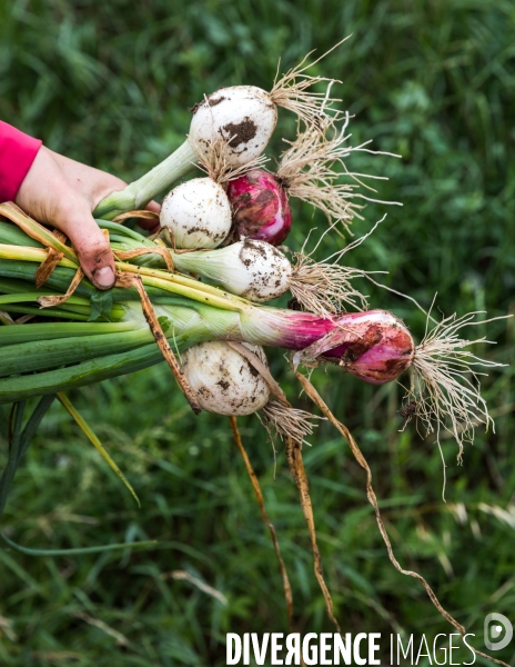
POLYGON ((190 137, 201 152, 229 140, 228 167, 246 165, 266 148, 277 122, 270 93, 255 86, 220 88, 193 108, 190 137))

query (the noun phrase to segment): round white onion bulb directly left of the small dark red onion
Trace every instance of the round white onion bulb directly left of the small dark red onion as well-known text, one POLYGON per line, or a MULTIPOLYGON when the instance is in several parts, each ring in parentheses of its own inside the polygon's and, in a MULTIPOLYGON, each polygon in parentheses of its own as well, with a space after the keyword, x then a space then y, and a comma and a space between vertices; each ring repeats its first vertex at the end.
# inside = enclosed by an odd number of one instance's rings
POLYGON ((216 248, 231 229, 231 206, 222 186, 193 178, 166 195, 159 221, 175 248, 216 248))

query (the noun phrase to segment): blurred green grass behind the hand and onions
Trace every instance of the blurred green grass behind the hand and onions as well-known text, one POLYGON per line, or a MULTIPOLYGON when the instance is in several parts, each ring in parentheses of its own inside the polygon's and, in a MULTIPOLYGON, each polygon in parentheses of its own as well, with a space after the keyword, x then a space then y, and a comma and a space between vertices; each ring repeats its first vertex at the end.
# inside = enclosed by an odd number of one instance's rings
MULTIPOLYGON (((509 0, 12 0, 0 3, 0 118, 131 180, 182 142, 188 109, 204 93, 236 83, 270 89, 280 57, 284 70, 352 32, 313 72, 342 80, 354 142, 373 139, 403 156, 364 155, 352 166, 387 176, 381 197, 404 206, 366 209, 356 235, 388 217, 349 262, 390 271, 384 280, 425 307, 437 291, 446 315, 505 315, 515 312, 514 30, 509 0)), ((270 152, 293 135, 282 112, 270 152)), ((299 249, 325 222, 309 207, 293 208, 299 249)), ((340 245, 326 238, 319 258, 340 245)), ((408 301, 367 291, 423 335, 408 301)), ((497 345, 477 351, 512 362, 513 322, 484 330, 497 345)), ((292 399, 309 407, 282 355, 270 356, 292 399)), ((463 467, 456 445, 443 441, 447 504, 433 440, 413 426, 398 432, 398 387, 365 386, 336 369, 313 378, 372 466, 397 557, 428 579, 484 649, 486 614, 515 621, 513 370, 485 378, 496 432, 477 432, 463 467)), ((287 631, 275 556, 226 420, 195 418, 162 365, 72 399, 142 509, 55 404, 19 470, 3 530, 34 548, 140 538, 160 546, 74 558, 0 549, 0 664, 218 666, 226 631, 287 631), (226 604, 174 579, 174 570, 216 588, 226 604)), ((274 479, 258 420, 240 426, 289 568, 299 629, 332 631, 282 448, 274 479)), ((425 633, 430 641, 451 633, 423 589, 387 560, 345 442, 326 424, 311 442, 305 464, 342 628, 382 633, 385 665, 391 633, 425 633)), ((6 447, 3 431, 2 457, 6 447)), ((496 655, 513 663, 515 644, 496 655)), ((469 661, 469 653, 454 660, 469 661)))

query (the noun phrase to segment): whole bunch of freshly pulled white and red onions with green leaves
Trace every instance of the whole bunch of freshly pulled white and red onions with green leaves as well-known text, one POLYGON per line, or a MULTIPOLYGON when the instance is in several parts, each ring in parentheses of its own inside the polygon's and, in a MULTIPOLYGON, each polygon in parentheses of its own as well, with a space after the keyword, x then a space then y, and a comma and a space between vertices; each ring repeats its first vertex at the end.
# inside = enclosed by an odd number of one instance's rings
MULTIPOLYGON (((303 61, 276 81, 271 92, 236 86, 206 97, 192 110, 186 141, 148 175, 98 206, 95 215, 103 218, 99 223, 110 235, 117 260, 117 283, 107 292, 95 290, 84 278, 72 248, 14 205, 0 203, 0 216, 8 220, 0 219, 0 320, 7 325, 0 327, 0 404, 83 387, 164 358, 195 412, 231 417, 258 412, 269 429, 289 438, 289 460, 322 586, 302 460, 293 460, 290 442, 302 444, 313 431, 312 416, 289 404, 271 376, 262 346, 291 351, 291 365, 311 397, 314 389, 297 372, 301 365, 335 365, 372 385, 398 380, 410 371, 405 418, 418 418, 427 432, 436 431, 437 440, 441 428, 446 428, 458 442, 460 455, 478 422, 486 428, 493 424, 474 370, 499 365, 466 349, 478 342, 461 338, 464 327, 476 323, 474 313, 443 319, 415 345, 406 325, 393 313, 365 309, 364 297, 347 280, 364 271, 316 265, 302 253, 292 266, 274 247, 291 229, 289 197, 321 209, 330 229, 341 222, 345 230, 354 217, 361 217, 356 199, 377 201, 355 192, 366 177, 349 171, 345 165, 352 151, 372 151, 366 143, 347 146, 349 116, 337 131, 339 113, 331 117, 326 111, 333 101, 329 99, 333 80, 309 77, 303 61), (310 90, 320 81, 329 82, 326 94, 310 90), (275 128, 277 106, 294 111, 305 127, 272 175, 262 169, 261 156, 275 128), (332 138, 326 137, 329 128, 334 131, 332 138), (120 213, 134 215, 134 209, 169 189, 196 163, 208 177, 181 183, 163 201, 160 235, 168 246, 161 238, 151 240, 109 221, 120 213), (335 167, 353 182, 342 183, 335 167), (199 276, 221 287, 204 283, 199 276), (306 311, 262 305, 287 290, 306 311), (343 312, 343 303, 363 310, 343 312), (33 322, 33 316, 48 321, 33 322)), ((336 421, 322 399, 315 402, 336 421)), ((352 437, 347 439, 367 470, 367 496, 388 554, 404 571, 385 537, 370 468, 352 437)), ((322 588, 333 617, 325 584, 322 588)))

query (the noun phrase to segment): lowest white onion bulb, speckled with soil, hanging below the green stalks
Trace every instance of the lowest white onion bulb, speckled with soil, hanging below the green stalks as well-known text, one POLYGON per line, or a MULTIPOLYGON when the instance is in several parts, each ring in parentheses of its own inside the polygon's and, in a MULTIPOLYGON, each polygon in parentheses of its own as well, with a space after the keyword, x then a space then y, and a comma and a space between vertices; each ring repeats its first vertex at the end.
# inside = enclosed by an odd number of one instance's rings
MULTIPOLYGON (((243 344, 266 365, 262 347, 243 344)), ((216 415, 252 415, 270 398, 263 377, 223 340, 200 342, 182 355, 182 368, 203 410, 216 415)))

